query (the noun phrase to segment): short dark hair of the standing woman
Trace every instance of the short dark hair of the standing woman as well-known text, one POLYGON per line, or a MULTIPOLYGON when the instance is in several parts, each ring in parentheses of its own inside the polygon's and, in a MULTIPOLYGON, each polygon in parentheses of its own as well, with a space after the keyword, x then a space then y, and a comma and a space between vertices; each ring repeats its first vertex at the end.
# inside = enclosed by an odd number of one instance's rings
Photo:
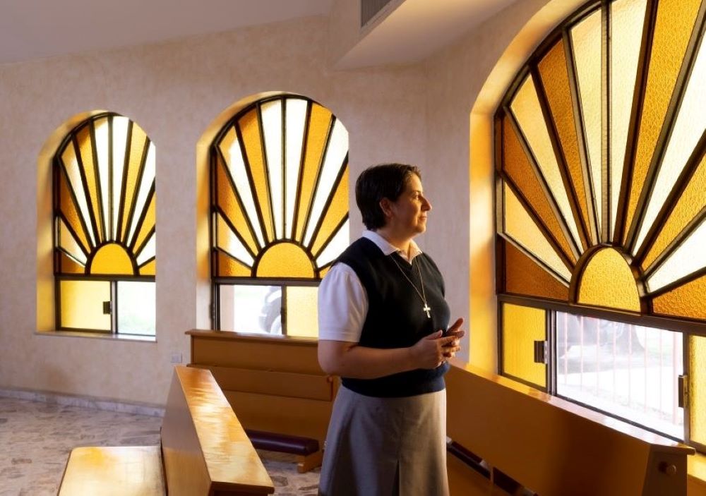
POLYGON ((361 172, 355 183, 355 202, 363 216, 363 224, 374 231, 385 226, 385 213, 380 201, 400 198, 412 174, 421 179, 419 167, 408 164, 379 164, 361 172))

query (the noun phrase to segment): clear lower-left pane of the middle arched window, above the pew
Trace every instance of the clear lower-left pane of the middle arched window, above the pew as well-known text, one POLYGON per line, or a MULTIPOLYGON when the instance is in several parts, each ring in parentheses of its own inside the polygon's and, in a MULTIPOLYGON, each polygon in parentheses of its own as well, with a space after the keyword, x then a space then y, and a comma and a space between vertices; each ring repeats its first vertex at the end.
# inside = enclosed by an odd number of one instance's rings
POLYGON ((220 286, 220 327, 225 331, 282 334, 282 288, 220 286))

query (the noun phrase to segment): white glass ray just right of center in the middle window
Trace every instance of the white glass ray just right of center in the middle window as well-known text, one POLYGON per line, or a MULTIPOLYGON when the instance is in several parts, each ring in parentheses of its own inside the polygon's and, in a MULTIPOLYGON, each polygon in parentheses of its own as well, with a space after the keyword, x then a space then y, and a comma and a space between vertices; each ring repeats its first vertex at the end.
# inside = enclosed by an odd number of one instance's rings
POLYGON ((301 164, 301 145, 304 140, 304 123, 306 119, 306 100, 287 99, 286 133, 285 133, 285 236, 292 237, 294 226, 294 203, 297 200, 297 183, 299 181, 299 165, 301 164))

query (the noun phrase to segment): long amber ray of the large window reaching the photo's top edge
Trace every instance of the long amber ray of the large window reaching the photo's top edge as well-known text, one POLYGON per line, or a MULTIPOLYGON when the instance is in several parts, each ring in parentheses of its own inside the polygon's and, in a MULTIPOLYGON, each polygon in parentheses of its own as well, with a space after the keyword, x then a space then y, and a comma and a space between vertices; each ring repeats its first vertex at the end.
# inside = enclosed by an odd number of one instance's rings
MULTIPOLYGON (((660 0, 657 21, 654 25, 650 72, 647 74, 645 103, 638 133, 638 148, 630 188, 630 202, 626 214, 626 226, 633 222, 640 193, 645 187, 647 169, 657 147, 657 138, 662 131, 667 107, 686 47, 693 30, 700 1, 660 0), (679 26, 679 29, 675 29, 679 26)), ((627 239, 627 229, 626 236, 627 239)))

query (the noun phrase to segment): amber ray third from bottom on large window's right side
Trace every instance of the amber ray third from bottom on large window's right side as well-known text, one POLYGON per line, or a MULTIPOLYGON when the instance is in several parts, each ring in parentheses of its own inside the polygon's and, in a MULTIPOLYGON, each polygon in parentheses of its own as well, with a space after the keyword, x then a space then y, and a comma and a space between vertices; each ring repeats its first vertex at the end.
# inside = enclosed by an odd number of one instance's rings
POLYGON ((706 207, 706 157, 701 159, 694 175, 691 177, 683 193, 676 200, 674 210, 667 217, 662 229, 660 229, 657 239, 652 244, 652 248, 647 252, 645 261, 642 262, 642 270, 650 267, 652 262, 660 255, 669 243, 683 231, 686 225, 696 217, 704 207, 706 207))

